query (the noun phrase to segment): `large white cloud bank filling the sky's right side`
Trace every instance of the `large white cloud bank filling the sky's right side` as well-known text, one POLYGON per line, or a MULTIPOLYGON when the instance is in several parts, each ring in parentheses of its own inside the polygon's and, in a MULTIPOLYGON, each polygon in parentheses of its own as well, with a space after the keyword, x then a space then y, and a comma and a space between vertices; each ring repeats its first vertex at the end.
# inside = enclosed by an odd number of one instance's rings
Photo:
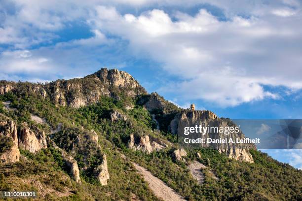
POLYGON ((146 54, 184 79, 159 91, 175 89, 175 94, 189 99, 235 106, 280 98, 266 91, 264 85, 302 88, 300 50, 287 46, 298 42, 293 41, 300 37, 294 30, 298 21, 285 20, 278 26, 280 18, 276 15, 268 19, 238 15, 220 21, 205 9, 195 16, 178 12, 174 20, 158 9, 139 16, 121 15, 114 7, 99 6, 96 10, 91 26, 123 37, 134 53, 146 54))

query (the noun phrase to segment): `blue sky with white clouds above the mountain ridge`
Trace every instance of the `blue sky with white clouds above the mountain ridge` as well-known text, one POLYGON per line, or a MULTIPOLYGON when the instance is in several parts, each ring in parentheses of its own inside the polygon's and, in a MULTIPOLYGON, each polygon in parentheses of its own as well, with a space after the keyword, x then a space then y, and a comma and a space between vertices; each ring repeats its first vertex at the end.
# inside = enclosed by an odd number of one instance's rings
POLYGON ((0 79, 118 68, 184 108, 302 119, 301 21, 301 0, 0 0, 0 79))

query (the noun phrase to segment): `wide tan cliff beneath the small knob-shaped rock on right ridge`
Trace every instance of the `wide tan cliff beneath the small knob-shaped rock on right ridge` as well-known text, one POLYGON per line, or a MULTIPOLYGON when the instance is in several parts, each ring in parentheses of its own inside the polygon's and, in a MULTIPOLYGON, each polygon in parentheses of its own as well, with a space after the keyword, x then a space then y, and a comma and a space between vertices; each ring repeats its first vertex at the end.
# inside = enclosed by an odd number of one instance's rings
MULTIPOLYGON (((170 129, 173 134, 184 134, 185 127, 195 127, 195 125, 202 125, 203 127, 210 126, 210 127, 228 127, 229 122, 225 119, 220 119, 211 111, 205 110, 190 110, 184 111, 171 121, 170 129)), ((232 139, 243 139, 245 136, 240 131, 239 133, 230 133, 230 134, 223 134, 223 133, 206 133, 204 135, 200 135, 201 138, 207 139, 208 137, 212 139, 219 139, 219 138, 229 138, 232 139)), ((200 144, 201 147, 210 147, 219 150, 221 153, 227 154, 229 158, 233 158, 239 161, 246 161, 249 163, 253 163, 252 155, 248 152, 248 149, 255 149, 256 146, 252 143, 245 143, 245 144, 235 144, 235 143, 202 143, 200 144)))

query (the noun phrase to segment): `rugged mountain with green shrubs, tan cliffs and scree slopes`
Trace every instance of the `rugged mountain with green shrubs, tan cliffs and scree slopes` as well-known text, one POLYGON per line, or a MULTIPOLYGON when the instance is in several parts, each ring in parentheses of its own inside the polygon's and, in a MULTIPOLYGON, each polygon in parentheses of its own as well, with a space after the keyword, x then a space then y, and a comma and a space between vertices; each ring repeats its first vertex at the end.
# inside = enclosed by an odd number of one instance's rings
POLYGON ((0 81, 0 100, 0 190, 34 190, 39 200, 302 198, 302 171, 254 144, 181 148, 185 127, 234 124, 148 94, 124 71, 102 68, 50 83, 0 81))

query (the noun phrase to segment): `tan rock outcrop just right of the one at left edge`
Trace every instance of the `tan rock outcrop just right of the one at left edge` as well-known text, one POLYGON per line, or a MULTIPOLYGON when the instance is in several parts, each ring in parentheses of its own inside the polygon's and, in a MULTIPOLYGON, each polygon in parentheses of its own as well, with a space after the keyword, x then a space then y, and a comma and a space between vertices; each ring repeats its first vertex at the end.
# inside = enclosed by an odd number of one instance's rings
POLYGON ((18 135, 19 148, 29 150, 31 153, 47 148, 45 133, 38 128, 35 130, 30 129, 26 123, 22 124, 18 135))

